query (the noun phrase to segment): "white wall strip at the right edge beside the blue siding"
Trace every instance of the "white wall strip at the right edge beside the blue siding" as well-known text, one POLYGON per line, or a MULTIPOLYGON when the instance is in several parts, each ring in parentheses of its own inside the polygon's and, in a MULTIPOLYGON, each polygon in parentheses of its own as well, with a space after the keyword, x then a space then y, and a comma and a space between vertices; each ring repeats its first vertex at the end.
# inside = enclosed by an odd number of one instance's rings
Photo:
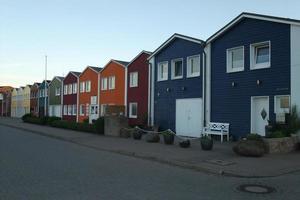
POLYGON ((291 104, 300 109, 300 26, 291 25, 291 104))

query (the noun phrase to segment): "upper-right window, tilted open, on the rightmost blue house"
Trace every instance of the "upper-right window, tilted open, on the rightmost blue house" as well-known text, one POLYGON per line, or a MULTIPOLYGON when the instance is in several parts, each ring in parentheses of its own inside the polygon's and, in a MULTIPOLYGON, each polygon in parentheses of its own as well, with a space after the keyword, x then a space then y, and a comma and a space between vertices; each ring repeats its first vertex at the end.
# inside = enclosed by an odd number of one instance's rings
POLYGON ((250 46, 250 69, 271 67, 271 42, 261 42, 250 46))

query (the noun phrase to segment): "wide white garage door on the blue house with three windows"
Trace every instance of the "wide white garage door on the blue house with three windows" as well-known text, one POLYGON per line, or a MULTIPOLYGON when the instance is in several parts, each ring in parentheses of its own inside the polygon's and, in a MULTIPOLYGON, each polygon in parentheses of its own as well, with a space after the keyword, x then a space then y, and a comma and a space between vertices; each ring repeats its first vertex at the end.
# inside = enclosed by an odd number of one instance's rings
POLYGON ((200 137, 203 128, 202 99, 176 100, 176 134, 200 137))

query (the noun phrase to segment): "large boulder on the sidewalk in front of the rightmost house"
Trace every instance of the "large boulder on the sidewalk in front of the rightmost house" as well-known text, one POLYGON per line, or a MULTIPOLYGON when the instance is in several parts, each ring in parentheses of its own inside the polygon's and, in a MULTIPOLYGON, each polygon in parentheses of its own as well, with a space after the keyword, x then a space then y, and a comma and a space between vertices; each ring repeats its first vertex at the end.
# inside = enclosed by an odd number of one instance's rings
POLYGON ((241 156, 261 157, 265 153, 265 144, 257 140, 241 140, 234 147, 233 151, 241 156))

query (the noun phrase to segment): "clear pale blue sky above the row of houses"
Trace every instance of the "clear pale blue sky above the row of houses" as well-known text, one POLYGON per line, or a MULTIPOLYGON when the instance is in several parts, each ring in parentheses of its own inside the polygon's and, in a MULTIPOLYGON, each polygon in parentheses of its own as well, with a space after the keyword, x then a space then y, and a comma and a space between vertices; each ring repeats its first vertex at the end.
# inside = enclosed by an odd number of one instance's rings
POLYGON ((0 0, 0 85, 130 61, 172 34, 206 40, 241 12, 300 19, 299 0, 0 0))

